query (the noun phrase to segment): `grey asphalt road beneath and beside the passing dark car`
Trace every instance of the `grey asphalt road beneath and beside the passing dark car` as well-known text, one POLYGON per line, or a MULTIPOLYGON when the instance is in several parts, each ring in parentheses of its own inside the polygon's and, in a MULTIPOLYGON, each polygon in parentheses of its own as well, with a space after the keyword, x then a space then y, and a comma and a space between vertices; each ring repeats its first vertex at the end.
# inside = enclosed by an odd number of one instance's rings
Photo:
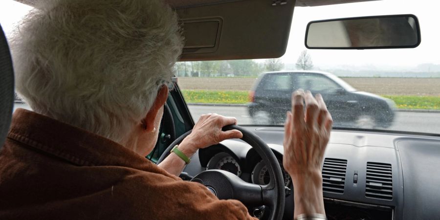
MULTIPOLYGON (((16 108, 30 109, 25 104, 16 104, 16 108)), ((246 107, 218 107, 218 106, 189 106, 191 114, 198 120, 201 114, 218 113, 225 116, 234 116, 238 124, 250 125, 252 119, 246 107)), ((393 126, 388 130, 404 132, 424 132, 440 134, 440 113, 432 112, 396 112, 396 119, 393 126)))

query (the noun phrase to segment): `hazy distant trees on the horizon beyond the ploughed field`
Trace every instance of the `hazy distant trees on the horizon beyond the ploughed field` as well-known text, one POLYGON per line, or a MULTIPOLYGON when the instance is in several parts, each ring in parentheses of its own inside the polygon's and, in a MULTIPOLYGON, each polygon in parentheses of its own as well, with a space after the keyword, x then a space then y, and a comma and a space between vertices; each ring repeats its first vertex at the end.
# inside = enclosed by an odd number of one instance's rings
MULTIPOLYGON (((258 76, 266 71, 280 71, 284 69, 280 58, 256 60, 220 60, 220 61, 192 61, 178 62, 175 73, 178 77, 243 77, 258 76)), ((313 63, 307 51, 303 51, 297 60, 297 69, 311 69, 313 63)))

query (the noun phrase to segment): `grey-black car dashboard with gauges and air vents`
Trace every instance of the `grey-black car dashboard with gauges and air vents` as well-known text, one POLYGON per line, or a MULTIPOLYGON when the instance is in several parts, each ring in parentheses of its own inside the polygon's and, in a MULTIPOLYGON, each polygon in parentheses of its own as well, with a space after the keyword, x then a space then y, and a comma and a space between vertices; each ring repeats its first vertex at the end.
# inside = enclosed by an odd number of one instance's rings
MULTIPOLYGON (((244 126, 260 136, 283 165, 280 127, 244 126)), ((333 130, 322 167, 329 220, 401 220, 440 217, 440 137, 333 130)), ((196 176, 221 169, 244 181, 265 185, 265 164, 242 140, 201 149, 184 172, 196 176)), ((286 187, 293 192, 284 171, 286 187)), ((293 195, 286 196, 283 219, 293 219, 293 195)))

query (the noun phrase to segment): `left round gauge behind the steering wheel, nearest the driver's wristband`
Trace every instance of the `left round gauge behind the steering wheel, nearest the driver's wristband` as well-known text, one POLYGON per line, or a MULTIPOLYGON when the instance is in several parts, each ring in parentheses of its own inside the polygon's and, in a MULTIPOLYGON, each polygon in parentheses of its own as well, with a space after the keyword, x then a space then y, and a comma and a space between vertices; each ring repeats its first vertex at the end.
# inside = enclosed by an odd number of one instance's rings
POLYGON ((240 168, 240 164, 233 156, 225 152, 216 154, 209 160, 206 170, 212 170, 212 169, 228 171, 237 176, 242 175, 242 169, 240 168))

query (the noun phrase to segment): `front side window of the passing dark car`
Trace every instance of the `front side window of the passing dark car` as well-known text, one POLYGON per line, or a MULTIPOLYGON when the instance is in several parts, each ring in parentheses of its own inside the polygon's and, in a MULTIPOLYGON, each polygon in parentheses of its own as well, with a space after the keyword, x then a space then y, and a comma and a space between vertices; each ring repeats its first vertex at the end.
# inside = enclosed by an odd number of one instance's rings
POLYGON ((298 74, 296 88, 310 90, 312 93, 334 93, 341 88, 335 82, 317 74, 298 74))

